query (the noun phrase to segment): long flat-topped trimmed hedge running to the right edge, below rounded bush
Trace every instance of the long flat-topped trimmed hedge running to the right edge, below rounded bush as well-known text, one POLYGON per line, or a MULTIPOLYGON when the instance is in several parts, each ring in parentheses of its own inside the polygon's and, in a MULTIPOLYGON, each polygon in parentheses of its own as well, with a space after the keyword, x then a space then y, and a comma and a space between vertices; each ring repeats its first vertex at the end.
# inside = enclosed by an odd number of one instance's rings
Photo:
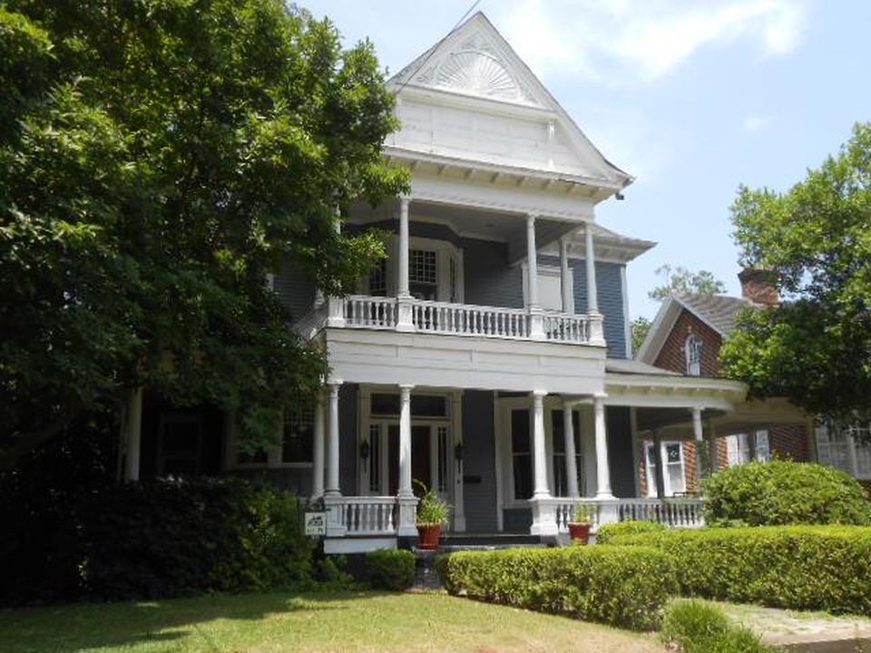
POLYGON ((685 596, 871 615, 871 528, 664 531, 612 544, 668 553, 685 596))

